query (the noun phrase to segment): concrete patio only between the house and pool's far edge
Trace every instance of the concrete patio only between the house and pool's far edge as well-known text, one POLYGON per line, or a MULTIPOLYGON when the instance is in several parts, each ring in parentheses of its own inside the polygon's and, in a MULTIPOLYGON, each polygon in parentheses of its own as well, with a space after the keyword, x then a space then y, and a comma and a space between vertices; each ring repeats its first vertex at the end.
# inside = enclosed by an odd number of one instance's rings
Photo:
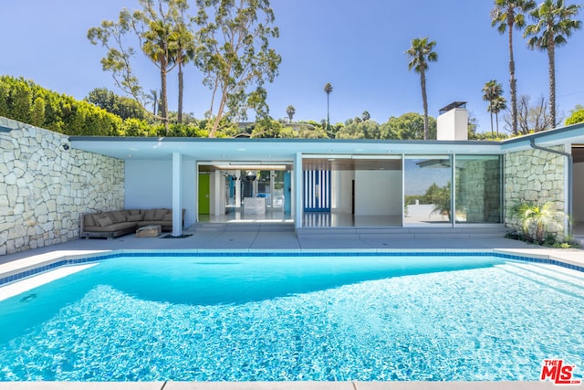
MULTIPOLYGON (((530 245, 522 241, 495 237, 494 235, 435 234, 398 235, 391 233, 356 233, 350 229, 346 234, 312 234, 297 235, 289 225, 247 224, 222 229, 205 229, 192 227, 182 238, 160 237, 139 238, 134 235, 114 239, 76 239, 63 244, 45 248, 36 248, 24 252, 0 257, 0 265, 24 260, 46 261, 65 255, 77 255, 110 250, 448 250, 448 249, 496 249, 508 253, 517 253, 534 257, 550 257, 572 264, 584 266, 584 250, 556 249, 530 245)), ((13 265, 14 267, 14 265, 13 265)), ((3 268, 0 267, 0 273, 3 268)))

